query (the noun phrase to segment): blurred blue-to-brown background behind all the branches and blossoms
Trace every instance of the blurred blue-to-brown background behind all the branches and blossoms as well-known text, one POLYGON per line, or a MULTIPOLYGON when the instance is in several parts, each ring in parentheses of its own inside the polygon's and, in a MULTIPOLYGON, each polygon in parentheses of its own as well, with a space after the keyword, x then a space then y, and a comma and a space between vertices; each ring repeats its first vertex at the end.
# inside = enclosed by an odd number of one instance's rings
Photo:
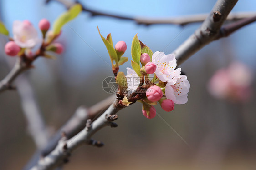
MULTIPOLYGON (((215 0, 81 0, 86 7, 122 16, 174 17, 208 13, 215 0)), ((238 1, 232 12, 255 11, 256 2, 238 1)), ((0 16, 12 36, 14 20, 30 20, 38 29, 42 18, 51 23, 66 10, 52 0, 1 0, 0 16)), ((98 31, 113 43, 123 40, 128 62, 120 67, 126 73, 130 66, 131 43, 138 37, 153 52, 165 54, 175 50, 200 23, 179 25, 137 25, 134 21, 106 16, 92 17, 82 12, 65 25, 56 40, 65 46, 56 60, 39 58, 26 76, 32 85, 42 117, 51 135, 80 105, 91 106, 110 94, 102 81, 112 76, 108 51, 98 31), (77 33, 76 33, 77 32, 77 33), (78 36, 78 35, 79 36, 78 36), (100 56, 100 57, 99 57, 100 56), (106 64, 108 63, 108 64, 106 64)), ((228 38, 205 46, 180 65, 191 84, 188 103, 175 105, 165 112, 157 105, 154 119, 146 119, 141 103, 121 110, 118 128, 106 127, 94 139, 104 147, 84 145, 72 153, 63 170, 253 170, 256 167, 256 23, 245 26, 228 38), (243 101, 218 99, 207 90, 211 77, 220 68, 239 61, 251 70, 251 97, 243 101), (164 121, 161 119, 164 119, 164 121), (172 128, 188 143, 174 133, 172 128)), ((38 29, 39 31, 39 29, 38 29)), ((0 80, 10 71, 8 63, 15 58, 4 54, 5 37, 0 35, 0 80)), ((221 84, 221 82, 219 82, 221 84)), ((17 86, 19 86, 17 84, 17 86)), ((27 130, 26 118, 16 91, 0 94, 0 169, 22 169, 36 151, 27 130)))

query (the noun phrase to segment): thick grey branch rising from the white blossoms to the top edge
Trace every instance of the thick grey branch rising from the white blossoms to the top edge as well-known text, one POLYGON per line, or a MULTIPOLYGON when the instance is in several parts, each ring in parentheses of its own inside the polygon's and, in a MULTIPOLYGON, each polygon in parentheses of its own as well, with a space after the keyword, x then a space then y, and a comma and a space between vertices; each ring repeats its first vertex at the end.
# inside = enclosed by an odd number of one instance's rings
POLYGON ((176 56, 177 65, 182 64, 191 55, 216 40, 219 31, 228 14, 238 0, 218 0, 212 11, 195 33, 184 41, 173 54, 176 56))

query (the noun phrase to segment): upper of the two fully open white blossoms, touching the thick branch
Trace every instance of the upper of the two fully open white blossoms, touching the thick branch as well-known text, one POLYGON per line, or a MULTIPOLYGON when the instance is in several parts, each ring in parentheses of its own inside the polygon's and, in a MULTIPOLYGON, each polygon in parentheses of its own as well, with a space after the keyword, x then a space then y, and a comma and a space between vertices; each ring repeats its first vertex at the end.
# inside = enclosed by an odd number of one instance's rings
POLYGON ((174 82, 172 78, 180 75, 181 68, 175 69, 177 60, 173 54, 165 55, 163 52, 156 51, 152 55, 152 62, 157 66, 156 76, 163 82, 174 82))

